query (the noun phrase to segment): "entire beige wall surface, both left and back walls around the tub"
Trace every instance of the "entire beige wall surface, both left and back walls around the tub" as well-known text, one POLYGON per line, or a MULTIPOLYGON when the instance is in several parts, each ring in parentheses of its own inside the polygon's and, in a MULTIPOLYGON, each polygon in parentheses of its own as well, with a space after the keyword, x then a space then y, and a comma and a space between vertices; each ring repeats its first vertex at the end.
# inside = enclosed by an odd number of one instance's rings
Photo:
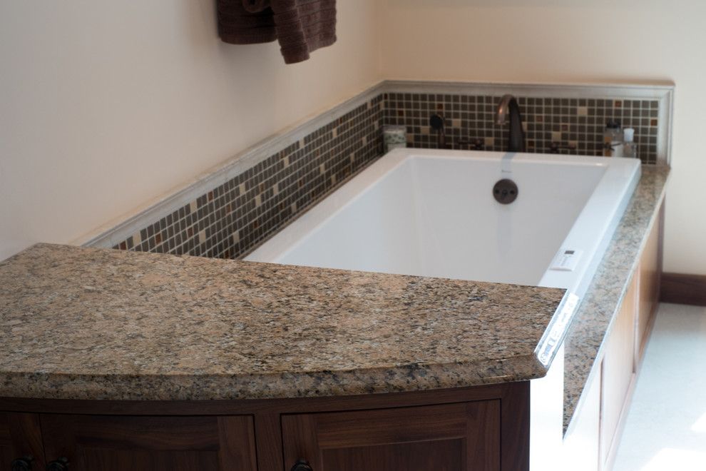
POLYGON ((221 44, 214 3, 0 1, 0 260, 71 241, 382 77, 672 80, 665 268, 706 273, 706 2, 339 0, 338 43, 294 66, 276 44, 221 44))

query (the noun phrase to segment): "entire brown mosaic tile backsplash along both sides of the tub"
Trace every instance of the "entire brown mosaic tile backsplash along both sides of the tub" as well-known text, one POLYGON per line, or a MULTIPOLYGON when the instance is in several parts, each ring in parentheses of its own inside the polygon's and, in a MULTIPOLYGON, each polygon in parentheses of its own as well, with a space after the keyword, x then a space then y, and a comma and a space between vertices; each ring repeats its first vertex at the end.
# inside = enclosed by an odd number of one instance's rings
MULTIPOLYGON (((507 126, 494 122, 498 100, 381 93, 114 248, 239 258, 382 156, 386 124, 406 126, 410 147, 434 148, 429 116, 438 113, 451 148, 503 151, 507 126)), ((616 119, 635 128, 643 163, 657 162, 658 101, 518 97, 518 103, 529 152, 600 156, 605 123, 616 119)))

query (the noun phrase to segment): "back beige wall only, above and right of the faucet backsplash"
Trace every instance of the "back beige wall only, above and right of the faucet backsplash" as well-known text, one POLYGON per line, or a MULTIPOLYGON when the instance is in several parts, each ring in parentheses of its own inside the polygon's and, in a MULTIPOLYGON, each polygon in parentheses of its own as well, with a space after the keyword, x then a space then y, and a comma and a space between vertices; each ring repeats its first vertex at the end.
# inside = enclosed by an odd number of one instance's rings
POLYGON ((706 1, 385 0, 386 78, 671 80, 665 269, 706 274, 706 1))

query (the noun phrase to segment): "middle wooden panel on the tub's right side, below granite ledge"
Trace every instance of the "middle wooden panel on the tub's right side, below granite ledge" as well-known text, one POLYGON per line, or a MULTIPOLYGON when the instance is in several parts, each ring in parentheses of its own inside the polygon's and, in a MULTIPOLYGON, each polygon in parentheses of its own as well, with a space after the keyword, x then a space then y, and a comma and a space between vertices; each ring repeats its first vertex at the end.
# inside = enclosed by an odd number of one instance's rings
POLYGON ((601 365, 600 455, 609 460, 635 373, 635 315, 638 279, 633 279, 606 340, 601 365))

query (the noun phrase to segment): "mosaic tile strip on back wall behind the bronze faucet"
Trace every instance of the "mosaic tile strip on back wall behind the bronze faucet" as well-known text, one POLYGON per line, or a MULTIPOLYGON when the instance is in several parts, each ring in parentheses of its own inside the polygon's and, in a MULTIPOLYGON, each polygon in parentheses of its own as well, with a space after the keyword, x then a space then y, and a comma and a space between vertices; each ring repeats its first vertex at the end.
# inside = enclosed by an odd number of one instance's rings
MULTIPOLYGON (((436 133, 429 128, 435 113, 446 121, 451 148, 503 151, 507 146, 508 126, 495 123, 498 96, 385 93, 384 98, 384 124, 406 126, 410 147, 436 148, 436 133)), ((623 128, 635 128, 643 163, 657 163, 658 101, 518 97, 518 104, 528 152, 602 156, 605 123, 615 119, 623 128)))

